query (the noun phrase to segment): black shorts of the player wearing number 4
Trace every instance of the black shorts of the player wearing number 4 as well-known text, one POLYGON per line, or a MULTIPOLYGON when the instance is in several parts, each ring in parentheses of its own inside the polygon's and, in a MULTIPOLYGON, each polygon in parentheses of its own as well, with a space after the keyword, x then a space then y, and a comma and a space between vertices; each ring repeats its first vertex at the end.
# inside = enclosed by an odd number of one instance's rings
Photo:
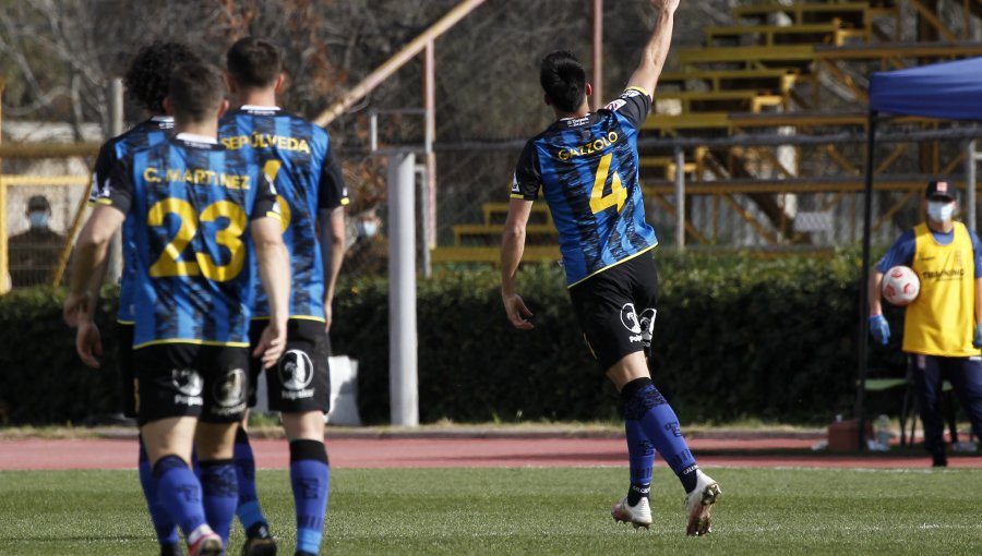
POLYGON ((658 273, 651 253, 627 259, 570 288, 573 310, 604 372, 651 346, 658 273))

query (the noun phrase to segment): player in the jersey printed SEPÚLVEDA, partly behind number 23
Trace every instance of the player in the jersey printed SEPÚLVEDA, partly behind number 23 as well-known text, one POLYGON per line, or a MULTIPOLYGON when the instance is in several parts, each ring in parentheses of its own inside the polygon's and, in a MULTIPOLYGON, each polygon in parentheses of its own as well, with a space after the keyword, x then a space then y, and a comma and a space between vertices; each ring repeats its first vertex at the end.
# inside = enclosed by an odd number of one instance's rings
MULTIPOLYGON (((290 318, 286 353, 265 376, 270 408, 282 412, 290 443, 297 554, 315 555, 321 549, 330 489, 324 413, 331 385, 327 360, 319 353, 326 347, 334 288, 344 257, 343 206, 348 203, 347 191, 327 132, 276 106, 276 94, 284 83, 276 46, 255 37, 242 38, 229 49, 226 63, 232 100, 240 108, 223 118, 221 141, 228 148, 268 159, 267 173, 280 195, 284 241, 292 270, 290 318)), ((268 315, 260 292, 253 340, 268 315)), ((253 363, 252 385, 262 371, 258 362, 253 363)), ((254 394, 251 398, 254 402, 254 394)), ((248 536, 243 553, 275 554, 256 499, 252 450, 242 428, 236 437, 236 463, 237 513, 248 536)))

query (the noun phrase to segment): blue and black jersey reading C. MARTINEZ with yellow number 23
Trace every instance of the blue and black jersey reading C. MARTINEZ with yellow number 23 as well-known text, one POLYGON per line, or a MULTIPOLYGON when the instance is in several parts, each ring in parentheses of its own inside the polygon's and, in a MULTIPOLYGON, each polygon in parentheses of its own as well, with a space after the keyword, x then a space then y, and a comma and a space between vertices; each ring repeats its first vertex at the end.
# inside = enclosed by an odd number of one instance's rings
POLYGON ((249 220, 278 216, 244 153, 182 135, 119 161, 98 200, 133 219, 133 347, 249 346, 255 291, 249 220))

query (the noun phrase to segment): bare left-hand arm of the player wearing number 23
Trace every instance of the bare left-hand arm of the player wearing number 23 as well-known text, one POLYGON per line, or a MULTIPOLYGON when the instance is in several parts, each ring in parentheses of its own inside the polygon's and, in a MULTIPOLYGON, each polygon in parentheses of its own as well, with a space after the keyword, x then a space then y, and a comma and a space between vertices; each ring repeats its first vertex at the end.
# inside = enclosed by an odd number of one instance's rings
POLYGON ((62 307, 62 316, 69 326, 79 326, 89 315, 93 303, 89 299, 89 283, 93 274, 105 263, 109 241, 124 219, 125 215, 120 210, 99 205, 79 234, 71 286, 62 307))

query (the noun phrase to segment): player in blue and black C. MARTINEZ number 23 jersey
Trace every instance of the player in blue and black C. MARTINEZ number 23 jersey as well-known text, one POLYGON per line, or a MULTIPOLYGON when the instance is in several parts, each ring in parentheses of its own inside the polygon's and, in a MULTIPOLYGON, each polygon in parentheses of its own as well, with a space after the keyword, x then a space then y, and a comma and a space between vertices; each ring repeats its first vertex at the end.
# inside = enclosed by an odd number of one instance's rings
POLYGON ((224 553, 238 489, 232 442, 246 411, 253 258, 271 318, 253 354, 283 354, 289 301, 276 191, 251 157, 217 141, 228 104, 214 67, 188 63, 165 107, 176 135, 120 160, 76 245, 64 302, 88 314, 88 285, 110 238, 133 217, 133 360, 141 434, 157 497, 192 556, 224 553), (189 461, 196 444, 201 479, 189 461))

